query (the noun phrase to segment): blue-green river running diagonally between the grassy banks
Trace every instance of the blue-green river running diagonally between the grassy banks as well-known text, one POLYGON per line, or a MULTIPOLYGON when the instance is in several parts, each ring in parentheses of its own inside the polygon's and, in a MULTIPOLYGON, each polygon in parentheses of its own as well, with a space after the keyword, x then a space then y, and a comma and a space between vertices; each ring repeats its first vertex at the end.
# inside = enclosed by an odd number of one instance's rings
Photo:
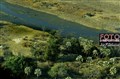
POLYGON ((18 24, 28 25, 32 28, 48 28, 59 30, 62 35, 73 34, 76 37, 85 37, 93 40, 99 39, 99 33, 105 30, 97 30, 84 25, 61 19, 55 15, 36 11, 7 2, 0 3, 0 11, 8 15, 0 16, 0 20, 7 20, 18 24))

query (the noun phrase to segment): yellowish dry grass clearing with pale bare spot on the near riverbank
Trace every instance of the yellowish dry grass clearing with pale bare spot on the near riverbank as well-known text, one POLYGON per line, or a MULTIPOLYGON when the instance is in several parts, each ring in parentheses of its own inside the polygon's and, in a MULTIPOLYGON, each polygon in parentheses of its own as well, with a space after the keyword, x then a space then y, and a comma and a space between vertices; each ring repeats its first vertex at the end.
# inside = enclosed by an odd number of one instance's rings
MULTIPOLYGON (((0 24, 3 25, 3 28, 0 28, 0 44, 7 44, 14 55, 32 56, 29 47, 31 40, 36 37, 45 44, 49 37, 46 32, 33 30, 23 25, 6 21, 0 21, 0 24), (25 37, 27 37, 26 40, 25 37), (24 46, 26 43, 28 43, 28 47, 24 46)), ((2 49, 0 49, 0 55, 2 55, 2 49)))

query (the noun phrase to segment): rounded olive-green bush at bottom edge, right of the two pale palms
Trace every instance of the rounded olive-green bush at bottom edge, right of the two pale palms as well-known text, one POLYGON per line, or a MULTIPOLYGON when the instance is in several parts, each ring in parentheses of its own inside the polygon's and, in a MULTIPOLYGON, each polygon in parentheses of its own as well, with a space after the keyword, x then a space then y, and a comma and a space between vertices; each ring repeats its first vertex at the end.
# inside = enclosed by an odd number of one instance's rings
POLYGON ((64 63, 57 63, 50 69, 48 74, 51 77, 65 77, 68 75, 68 69, 64 63))

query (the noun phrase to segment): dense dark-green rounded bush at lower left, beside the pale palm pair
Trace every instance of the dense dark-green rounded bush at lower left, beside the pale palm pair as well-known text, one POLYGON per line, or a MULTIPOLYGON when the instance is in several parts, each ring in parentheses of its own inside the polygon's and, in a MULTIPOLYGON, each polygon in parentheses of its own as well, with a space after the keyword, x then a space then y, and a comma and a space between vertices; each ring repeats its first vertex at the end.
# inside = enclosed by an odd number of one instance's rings
POLYGON ((25 58, 23 56, 12 56, 5 60, 3 66, 10 69, 13 74, 23 73, 24 66, 26 66, 25 58))

